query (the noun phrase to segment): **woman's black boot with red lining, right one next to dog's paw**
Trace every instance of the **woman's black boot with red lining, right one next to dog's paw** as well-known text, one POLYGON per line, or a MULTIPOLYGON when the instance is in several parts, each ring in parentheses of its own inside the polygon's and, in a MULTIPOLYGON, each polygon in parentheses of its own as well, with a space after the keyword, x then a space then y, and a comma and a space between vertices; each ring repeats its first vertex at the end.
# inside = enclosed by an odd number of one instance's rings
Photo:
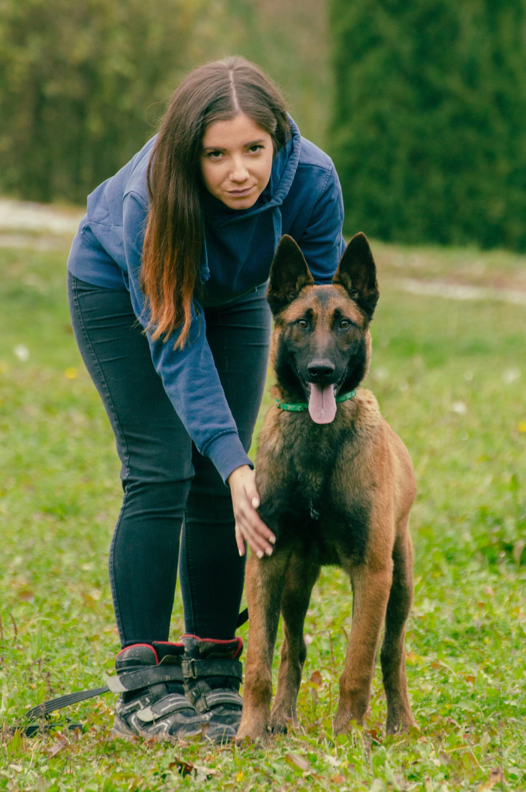
POLYGON ((236 737, 243 709, 238 693, 242 666, 237 660, 243 651, 243 639, 215 641, 184 635, 181 641, 187 699, 210 718, 206 737, 216 743, 228 743, 236 737))

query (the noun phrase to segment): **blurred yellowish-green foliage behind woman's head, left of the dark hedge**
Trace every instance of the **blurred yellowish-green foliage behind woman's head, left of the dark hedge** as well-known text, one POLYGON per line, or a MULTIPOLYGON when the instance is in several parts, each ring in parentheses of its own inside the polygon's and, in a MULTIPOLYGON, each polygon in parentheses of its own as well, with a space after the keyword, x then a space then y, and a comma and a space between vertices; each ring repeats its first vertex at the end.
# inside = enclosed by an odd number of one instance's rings
POLYGON ((0 0, 0 190, 83 203, 151 137, 180 78, 240 54, 323 144, 325 3, 0 0))

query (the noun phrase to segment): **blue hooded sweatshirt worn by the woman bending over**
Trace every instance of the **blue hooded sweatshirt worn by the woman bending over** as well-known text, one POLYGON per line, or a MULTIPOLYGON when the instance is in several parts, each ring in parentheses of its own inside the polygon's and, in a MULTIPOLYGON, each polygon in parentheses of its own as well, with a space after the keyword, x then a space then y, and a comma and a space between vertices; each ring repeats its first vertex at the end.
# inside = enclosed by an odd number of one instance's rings
MULTIPOLYGON (((282 234, 301 247, 317 284, 331 282, 345 248, 343 201, 331 159, 302 138, 289 116, 292 137, 274 155, 271 178, 254 206, 230 209, 206 192, 205 244, 201 257, 205 307, 227 303, 264 284, 282 234)), ((130 292, 134 314, 148 323, 139 273, 148 215, 146 169, 155 138, 115 176, 88 196, 88 211, 74 238, 70 272, 89 284, 130 292)), ((204 315, 194 303, 190 334, 174 352, 175 329, 166 343, 147 335, 153 365, 176 413, 200 453, 223 481, 240 465, 252 466, 241 445, 206 341, 204 315)))

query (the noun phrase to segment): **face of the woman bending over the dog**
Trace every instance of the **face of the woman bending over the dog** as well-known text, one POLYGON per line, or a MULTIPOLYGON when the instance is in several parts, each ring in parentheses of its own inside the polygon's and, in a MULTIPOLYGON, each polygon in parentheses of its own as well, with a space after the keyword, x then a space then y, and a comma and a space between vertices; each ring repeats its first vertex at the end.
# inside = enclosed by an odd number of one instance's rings
POLYGON ((249 209, 267 187, 273 154, 271 135, 244 113, 214 121, 202 137, 202 181, 231 209, 249 209))

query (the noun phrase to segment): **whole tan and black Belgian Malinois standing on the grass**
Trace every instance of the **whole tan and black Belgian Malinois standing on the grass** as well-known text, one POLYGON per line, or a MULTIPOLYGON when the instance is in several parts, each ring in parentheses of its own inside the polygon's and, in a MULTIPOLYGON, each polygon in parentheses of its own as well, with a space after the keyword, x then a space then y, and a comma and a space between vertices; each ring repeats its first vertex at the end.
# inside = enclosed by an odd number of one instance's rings
POLYGON ((379 291, 364 234, 347 246, 332 284, 316 286, 296 242, 284 236, 271 267, 271 361, 278 396, 256 458, 259 515, 274 553, 247 565, 250 615, 243 718, 237 742, 267 741, 296 723, 306 657, 303 626, 324 564, 339 565, 353 589, 353 623, 339 680, 335 734, 363 724, 377 645, 387 697, 387 731, 414 725, 404 633, 413 598, 408 520, 411 457, 369 390, 369 323, 379 291), (283 617, 278 688, 271 712, 272 656, 283 617))

